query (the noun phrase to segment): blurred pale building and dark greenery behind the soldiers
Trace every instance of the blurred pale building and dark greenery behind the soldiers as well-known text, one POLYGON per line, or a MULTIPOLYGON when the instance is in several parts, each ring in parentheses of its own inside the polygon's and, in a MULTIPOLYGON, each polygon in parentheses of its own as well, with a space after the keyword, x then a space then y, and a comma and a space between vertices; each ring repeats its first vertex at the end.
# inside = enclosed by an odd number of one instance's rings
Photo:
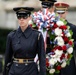
MULTIPOLYGON (((67 20, 76 25, 76 0, 57 0, 57 2, 65 2, 70 5, 67 20)), ((34 7, 35 11, 41 8, 39 0, 0 0, 0 73, 3 69, 3 58, 6 46, 7 34, 18 28, 14 7, 29 6, 34 7)), ((75 52, 76 57, 76 52, 75 52)))

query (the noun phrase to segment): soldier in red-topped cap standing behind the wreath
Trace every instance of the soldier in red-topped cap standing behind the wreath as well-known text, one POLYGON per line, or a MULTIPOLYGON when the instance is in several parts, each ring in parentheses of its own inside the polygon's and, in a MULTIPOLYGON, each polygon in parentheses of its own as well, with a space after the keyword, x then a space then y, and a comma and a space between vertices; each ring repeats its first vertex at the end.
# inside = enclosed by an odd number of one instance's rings
MULTIPOLYGON (((56 3, 55 7, 56 7, 56 12, 60 15, 60 18, 63 18, 64 20, 66 20, 67 10, 69 8, 69 5, 67 3, 56 3)), ((70 29, 73 31, 72 38, 74 39, 74 51, 75 51, 76 50, 76 26, 68 22, 67 20, 66 22, 67 22, 67 26, 70 26, 70 29)), ((74 56, 72 57, 70 64, 61 70, 60 75, 76 75, 74 56)))

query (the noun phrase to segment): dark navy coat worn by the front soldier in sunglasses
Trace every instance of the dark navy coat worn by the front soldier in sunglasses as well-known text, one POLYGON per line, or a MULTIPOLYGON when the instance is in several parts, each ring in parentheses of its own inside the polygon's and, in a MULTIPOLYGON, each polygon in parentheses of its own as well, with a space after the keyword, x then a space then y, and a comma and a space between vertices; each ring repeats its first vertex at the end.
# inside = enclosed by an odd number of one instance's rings
MULTIPOLYGON (((7 36, 6 52, 5 52, 5 67, 4 74, 6 75, 6 66, 14 58, 32 59, 38 54, 40 62, 39 75, 46 75, 46 57, 44 50, 44 41, 42 34, 32 29, 30 26, 22 32, 19 27, 16 31, 12 31, 7 36), (40 37, 38 37, 40 34, 40 37), (39 38, 39 39, 38 39, 39 38)), ((9 75, 38 75, 36 63, 28 64, 27 67, 17 67, 12 64, 9 75), (12 67, 13 66, 13 67, 12 67)))

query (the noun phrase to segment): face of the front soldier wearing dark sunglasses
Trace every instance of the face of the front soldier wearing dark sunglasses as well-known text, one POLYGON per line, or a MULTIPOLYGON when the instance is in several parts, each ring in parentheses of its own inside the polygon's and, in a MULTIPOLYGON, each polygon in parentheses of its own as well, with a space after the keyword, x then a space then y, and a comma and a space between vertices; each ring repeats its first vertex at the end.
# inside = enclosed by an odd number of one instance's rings
POLYGON ((28 26, 28 22, 30 20, 30 16, 26 17, 26 16, 19 16, 18 18, 18 22, 20 27, 25 27, 28 26))

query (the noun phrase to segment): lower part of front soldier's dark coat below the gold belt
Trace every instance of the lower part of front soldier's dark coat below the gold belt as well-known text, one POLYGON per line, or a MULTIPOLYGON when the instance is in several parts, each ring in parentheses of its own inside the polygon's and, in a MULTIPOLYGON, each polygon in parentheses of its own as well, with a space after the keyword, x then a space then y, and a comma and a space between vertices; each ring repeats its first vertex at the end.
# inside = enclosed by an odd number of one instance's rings
POLYGON ((29 64, 13 63, 8 75, 38 75, 38 68, 35 62, 29 64))

